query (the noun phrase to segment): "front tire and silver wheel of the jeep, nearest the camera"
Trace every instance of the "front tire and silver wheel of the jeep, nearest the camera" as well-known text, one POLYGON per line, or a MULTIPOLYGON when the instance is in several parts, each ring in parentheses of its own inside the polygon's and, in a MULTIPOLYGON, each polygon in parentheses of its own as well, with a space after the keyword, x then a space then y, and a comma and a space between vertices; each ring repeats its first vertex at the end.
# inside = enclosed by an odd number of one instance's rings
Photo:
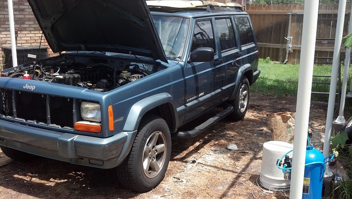
POLYGON ((132 149, 116 168, 120 184, 127 189, 146 192, 165 177, 171 155, 171 136, 166 122, 156 116, 144 117, 132 149))

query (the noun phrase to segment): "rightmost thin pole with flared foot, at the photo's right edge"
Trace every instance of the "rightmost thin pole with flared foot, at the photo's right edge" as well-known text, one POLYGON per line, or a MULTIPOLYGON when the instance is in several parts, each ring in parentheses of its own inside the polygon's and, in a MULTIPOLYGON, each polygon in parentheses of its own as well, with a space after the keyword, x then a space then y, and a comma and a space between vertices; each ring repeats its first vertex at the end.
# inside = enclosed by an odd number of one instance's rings
MULTIPOLYGON (((352 11, 352 5, 351 5, 352 11)), ((352 32, 352 15, 349 13, 349 26, 348 26, 348 34, 352 32)), ((347 89, 347 79, 348 79, 348 70, 349 70, 349 59, 351 55, 351 48, 346 49, 346 55, 344 57, 344 70, 343 70, 343 81, 342 81, 342 91, 341 91, 341 99, 340 99, 340 110, 338 112, 338 117, 336 118, 336 123, 345 123, 343 112, 344 112, 344 102, 346 100, 346 89, 347 89)))

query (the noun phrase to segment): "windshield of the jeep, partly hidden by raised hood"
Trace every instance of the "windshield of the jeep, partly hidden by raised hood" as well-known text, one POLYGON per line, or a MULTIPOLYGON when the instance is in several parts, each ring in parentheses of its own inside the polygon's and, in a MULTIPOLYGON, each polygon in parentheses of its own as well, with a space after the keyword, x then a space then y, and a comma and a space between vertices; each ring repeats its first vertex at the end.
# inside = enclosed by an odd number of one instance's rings
POLYGON ((153 21, 166 58, 181 60, 190 20, 182 17, 153 16, 153 21))

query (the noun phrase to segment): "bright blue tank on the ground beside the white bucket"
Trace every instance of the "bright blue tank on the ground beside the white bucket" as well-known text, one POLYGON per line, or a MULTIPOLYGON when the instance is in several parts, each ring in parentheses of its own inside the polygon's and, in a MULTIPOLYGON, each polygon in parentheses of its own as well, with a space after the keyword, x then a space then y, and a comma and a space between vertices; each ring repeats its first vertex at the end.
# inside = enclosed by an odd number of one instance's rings
POLYGON ((313 146, 307 147, 302 199, 322 197, 323 176, 326 167, 324 160, 324 156, 319 150, 314 149, 313 146))

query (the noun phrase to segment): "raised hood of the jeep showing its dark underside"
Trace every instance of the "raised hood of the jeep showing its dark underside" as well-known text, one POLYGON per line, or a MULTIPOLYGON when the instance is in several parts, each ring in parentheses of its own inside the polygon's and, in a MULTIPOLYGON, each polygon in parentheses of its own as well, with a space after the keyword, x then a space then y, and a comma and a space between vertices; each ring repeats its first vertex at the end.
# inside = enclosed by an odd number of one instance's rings
POLYGON ((167 62, 144 0, 28 2, 54 52, 118 52, 167 62))

